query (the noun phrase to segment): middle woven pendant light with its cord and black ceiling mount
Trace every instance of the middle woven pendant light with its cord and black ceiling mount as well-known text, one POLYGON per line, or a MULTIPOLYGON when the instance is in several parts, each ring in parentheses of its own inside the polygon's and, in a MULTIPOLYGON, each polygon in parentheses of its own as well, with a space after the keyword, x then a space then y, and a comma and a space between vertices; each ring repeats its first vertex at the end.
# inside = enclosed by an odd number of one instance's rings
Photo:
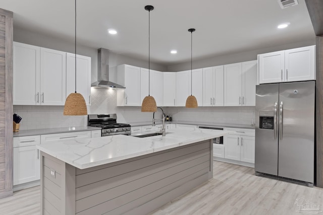
POLYGON ((153 10, 151 5, 145 6, 148 11, 148 96, 146 96, 141 104, 141 112, 156 112, 157 105, 155 99, 150 96, 150 11, 153 10))

